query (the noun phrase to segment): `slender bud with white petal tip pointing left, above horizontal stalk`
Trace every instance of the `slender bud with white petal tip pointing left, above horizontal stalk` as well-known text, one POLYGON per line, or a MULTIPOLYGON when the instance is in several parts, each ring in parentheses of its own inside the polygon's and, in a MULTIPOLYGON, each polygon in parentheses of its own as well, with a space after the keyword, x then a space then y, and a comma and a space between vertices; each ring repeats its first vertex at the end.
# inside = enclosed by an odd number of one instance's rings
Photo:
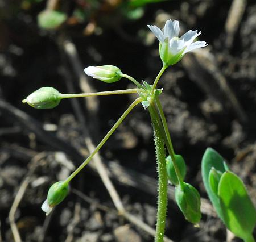
POLYGON ((121 70, 114 65, 89 66, 84 69, 84 72, 90 77, 107 83, 116 82, 122 78, 121 70))

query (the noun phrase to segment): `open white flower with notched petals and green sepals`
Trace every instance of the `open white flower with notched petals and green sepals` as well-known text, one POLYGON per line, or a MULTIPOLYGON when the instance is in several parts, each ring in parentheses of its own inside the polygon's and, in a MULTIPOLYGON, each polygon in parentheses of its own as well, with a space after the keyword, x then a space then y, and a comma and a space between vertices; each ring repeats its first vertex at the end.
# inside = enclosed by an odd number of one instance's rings
POLYGON ((160 57, 167 65, 174 65, 181 60, 185 53, 208 45, 205 41, 193 43, 196 37, 201 34, 201 32, 197 33, 197 30, 189 30, 179 37, 180 26, 177 20, 173 22, 172 20, 167 20, 163 30, 160 30, 155 25, 148 25, 148 28, 160 41, 160 57))

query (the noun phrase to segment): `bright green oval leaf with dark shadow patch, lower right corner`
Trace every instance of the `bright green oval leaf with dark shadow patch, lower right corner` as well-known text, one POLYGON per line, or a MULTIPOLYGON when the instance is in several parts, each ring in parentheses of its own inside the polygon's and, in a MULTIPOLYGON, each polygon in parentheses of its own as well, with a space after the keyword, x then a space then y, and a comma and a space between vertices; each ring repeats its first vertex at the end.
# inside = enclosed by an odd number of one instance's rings
POLYGON ((232 172, 225 172, 218 185, 218 196, 226 227, 237 237, 253 241, 256 211, 242 180, 232 172))

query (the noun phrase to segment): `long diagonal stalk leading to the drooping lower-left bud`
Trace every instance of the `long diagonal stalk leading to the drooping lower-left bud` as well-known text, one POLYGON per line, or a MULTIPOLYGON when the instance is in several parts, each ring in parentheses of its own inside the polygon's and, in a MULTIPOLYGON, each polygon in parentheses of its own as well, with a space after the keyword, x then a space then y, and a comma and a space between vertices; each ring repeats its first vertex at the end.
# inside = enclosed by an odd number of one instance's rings
POLYGON ((133 101, 133 103, 131 103, 131 105, 128 107, 128 109, 126 109, 125 112, 123 112, 122 116, 117 120, 117 122, 114 124, 114 126, 110 129, 110 131, 105 135, 105 137, 100 141, 100 143, 97 145, 97 147, 94 149, 94 151, 88 156, 88 158, 86 158, 86 160, 84 162, 82 162, 82 164, 79 166, 79 168, 77 168, 75 170, 75 172, 73 172, 66 180, 65 183, 69 183, 75 176, 77 173, 79 173, 81 171, 82 168, 84 168, 84 166, 86 166, 90 160, 92 160, 93 156, 100 150, 100 148, 102 147, 102 145, 105 144, 105 142, 109 139, 109 137, 112 135, 112 133, 117 129, 117 127, 119 126, 119 124, 121 124, 123 122, 123 119, 125 119, 125 117, 129 114, 129 112, 136 106, 138 105, 138 103, 140 103, 142 101, 141 98, 137 98, 133 101))

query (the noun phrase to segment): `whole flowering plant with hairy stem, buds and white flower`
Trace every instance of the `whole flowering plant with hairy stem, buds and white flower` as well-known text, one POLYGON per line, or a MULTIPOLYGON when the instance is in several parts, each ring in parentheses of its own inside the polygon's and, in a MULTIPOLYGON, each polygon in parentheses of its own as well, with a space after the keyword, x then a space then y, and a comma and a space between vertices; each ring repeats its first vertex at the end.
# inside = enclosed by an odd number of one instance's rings
POLYGON ((183 212, 185 219, 189 222, 198 224, 201 219, 200 212, 200 195, 197 190, 184 182, 186 167, 182 156, 176 155, 172 147, 172 141, 166 118, 163 113, 162 105, 159 100, 159 95, 162 89, 157 88, 158 81, 162 76, 164 70, 176 64, 182 59, 185 53, 193 51, 194 49, 207 46, 204 41, 195 41, 196 37, 200 35, 197 30, 189 30, 187 33, 179 37, 180 27, 177 20, 168 20, 163 28, 148 25, 150 30, 159 40, 159 54, 163 62, 163 67, 156 76, 152 85, 145 81, 142 84, 135 78, 124 74, 117 66, 102 65, 89 66, 84 69, 88 76, 94 79, 112 84, 122 78, 127 78, 132 81, 137 87, 127 90, 102 91, 98 93, 82 93, 82 94, 61 94, 53 87, 42 87, 28 95, 23 103, 36 109, 52 109, 59 105, 60 101, 65 98, 89 97, 92 95, 113 95, 113 94, 131 94, 137 93, 139 97, 131 103, 121 117, 117 120, 110 131, 100 141, 94 151, 86 158, 84 162, 77 168, 65 181, 54 183, 49 191, 46 201, 42 205, 42 210, 48 215, 52 208, 58 205, 68 194, 69 182, 92 160, 93 156, 100 150, 102 145, 109 139, 112 133, 116 130, 119 124, 126 118, 131 110, 139 103, 142 103, 144 109, 150 113, 152 127, 154 130, 154 141, 156 148, 156 160, 158 165, 158 214, 156 222, 155 241, 162 242, 164 239, 164 228, 166 220, 167 208, 167 179, 176 186, 175 198, 177 205, 181 212, 183 212), (166 157, 166 148, 168 155, 166 157))

